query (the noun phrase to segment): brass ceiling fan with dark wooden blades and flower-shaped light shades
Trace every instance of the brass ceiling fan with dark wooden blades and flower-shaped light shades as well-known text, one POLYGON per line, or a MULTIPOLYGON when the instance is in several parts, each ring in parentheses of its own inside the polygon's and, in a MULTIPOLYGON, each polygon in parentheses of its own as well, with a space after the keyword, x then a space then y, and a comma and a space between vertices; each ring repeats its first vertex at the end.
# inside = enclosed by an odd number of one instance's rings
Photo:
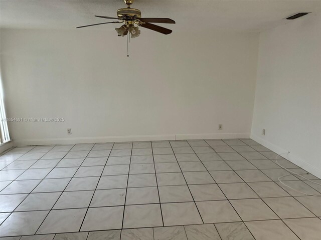
POLYGON ((140 34, 140 30, 138 29, 138 26, 148 28, 153 31, 158 31, 163 34, 170 34, 172 32, 171 29, 158 26, 153 23, 175 23, 174 20, 170 18, 156 18, 156 17, 141 17, 141 11, 136 8, 130 8, 130 5, 134 0, 124 0, 127 7, 126 8, 120 8, 117 10, 117 17, 111 17, 111 16, 97 16, 102 18, 108 18, 108 19, 117 19, 119 21, 109 21, 109 22, 102 22, 97 24, 91 24, 91 25, 85 25, 85 26, 78 26, 76 28, 81 27, 87 27, 87 26, 94 26, 94 25, 100 25, 100 24, 106 24, 106 23, 122 23, 125 22, 125 24, 121 25, 119 28, 115 28, 118 36, 124 36, 127 35, 129 32, 129 35, 131 38, 137 37, 140 34), (137 26, 135 26, 137 25, 137 26))

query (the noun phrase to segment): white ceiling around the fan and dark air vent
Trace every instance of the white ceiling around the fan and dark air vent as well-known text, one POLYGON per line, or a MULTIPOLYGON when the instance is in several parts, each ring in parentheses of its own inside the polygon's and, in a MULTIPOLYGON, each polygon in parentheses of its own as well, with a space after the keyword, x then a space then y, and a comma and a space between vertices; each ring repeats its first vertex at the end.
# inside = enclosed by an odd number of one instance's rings
MULTIPOLYGON (((104 22, 94 15, 116 16, 122 0, 1 0, 3 28, 74 29, 104 22)), ((286 24, 298 11, 321 13, 320 0, 136 0, 143 17, 170 17, 173 30, 259 32, 286 24)), ((303 16, 303 17, 309 17, 303 16)), ((106 20, 108 21, 108 20, 106 20)), ((109 24, 86 29, 114 30, 109 24)))

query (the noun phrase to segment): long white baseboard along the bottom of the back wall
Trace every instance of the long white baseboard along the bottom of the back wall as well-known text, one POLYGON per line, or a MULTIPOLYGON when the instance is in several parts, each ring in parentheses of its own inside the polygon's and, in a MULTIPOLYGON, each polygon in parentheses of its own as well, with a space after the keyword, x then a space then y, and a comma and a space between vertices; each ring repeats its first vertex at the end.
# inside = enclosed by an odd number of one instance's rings
POLYGON ((248 138, 250 133, 204 133, 204 134, 167 134, 167 135, 137 135, 137 136, 101 136, 101 137, 71 137, 46 139, 15 139, 15 146, 50 145, 50 144, 76 144, 97 142, 125 142, 125 141, 160 141, 185 139, 222 139, 222 138, 248 138))

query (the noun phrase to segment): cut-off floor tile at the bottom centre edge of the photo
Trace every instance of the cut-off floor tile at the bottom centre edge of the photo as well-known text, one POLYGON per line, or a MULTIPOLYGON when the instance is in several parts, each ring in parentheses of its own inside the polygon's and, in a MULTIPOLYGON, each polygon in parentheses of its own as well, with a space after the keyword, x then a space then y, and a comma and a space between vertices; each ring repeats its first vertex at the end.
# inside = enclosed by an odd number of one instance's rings
POLYGON ((154 227, 155 240, 187 240, 184 226, 154 227))

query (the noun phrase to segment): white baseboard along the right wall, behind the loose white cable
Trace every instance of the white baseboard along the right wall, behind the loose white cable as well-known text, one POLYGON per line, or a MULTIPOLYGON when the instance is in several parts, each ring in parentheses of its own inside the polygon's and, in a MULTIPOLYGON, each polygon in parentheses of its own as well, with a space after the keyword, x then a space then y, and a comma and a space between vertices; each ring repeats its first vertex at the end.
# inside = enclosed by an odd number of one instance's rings
MULTIPOLYGON (((279 147, 265 139, 263 139, 262 137, 256 136, 256 135, 251 135, 251 138, 255 141, 257 141, 258 143, 262 144, 263 146, 271 149, 272 151, 276 152, 277 154, 281 154, 284 152, 288 152, 287 149, 284 149, 282 147, 279 147)), ((299 167, 303 168, 304 170, 310 172, 311 174, 321 178, 321 169, 311 165, 310 163, 306 162, 305 160, 303 160, 302 158, 294 155, 293 153, 288 153, 288 154, 281 154, 282 157, 286 158, 287 160, 293 162, 295 165, 298 165, 299 167)))

